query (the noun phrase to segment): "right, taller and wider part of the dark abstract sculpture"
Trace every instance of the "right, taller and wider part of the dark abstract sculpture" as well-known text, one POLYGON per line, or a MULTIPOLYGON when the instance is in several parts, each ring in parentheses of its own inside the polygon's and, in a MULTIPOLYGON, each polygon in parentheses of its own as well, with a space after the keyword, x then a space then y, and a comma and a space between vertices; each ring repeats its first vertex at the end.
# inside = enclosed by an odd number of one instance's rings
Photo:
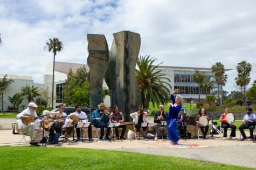
POLYGON ((113 35, 105 80, 111 92, 111 105, 118 105, 128 121, 129 114, 140 106, 140 89, 135 77, 140 34, 121 31, 113 35))

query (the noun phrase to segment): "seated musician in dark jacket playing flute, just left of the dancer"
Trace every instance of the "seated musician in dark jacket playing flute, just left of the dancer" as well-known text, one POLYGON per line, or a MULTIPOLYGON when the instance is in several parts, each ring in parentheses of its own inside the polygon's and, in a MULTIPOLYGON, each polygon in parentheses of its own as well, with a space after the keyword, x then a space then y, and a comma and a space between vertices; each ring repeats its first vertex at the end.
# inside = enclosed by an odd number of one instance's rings
MULTIPOLYGON (((156 130, 156 136, 157 139, 162 139, 163 138, 167 138, 167 131, 165 130, 165 132, 163 133, 163 136, 161 135, 160 132, 160 127, 162 127, 162 121, 166 121, 166 113, 164 112, 164 106, 160 105, 159 106, 159 110, 157 112, 155 112, 154 115, 154 128, 156 130)), ((165 123, 165 127, 167 127, 167 124, 165 123)))

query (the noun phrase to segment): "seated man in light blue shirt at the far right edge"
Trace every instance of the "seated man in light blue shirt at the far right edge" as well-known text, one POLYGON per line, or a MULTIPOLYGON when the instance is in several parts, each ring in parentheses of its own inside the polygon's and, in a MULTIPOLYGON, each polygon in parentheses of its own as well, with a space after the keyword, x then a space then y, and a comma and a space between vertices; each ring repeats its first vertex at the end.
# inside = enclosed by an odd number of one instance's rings
POLYGON ((243 136, 243 138, 241 138, 240 141, 244 141, 245 139, 247 139, 244 129, 250 130, 250 140, 253 141, 253 129, 255 128, 256 125, 256 115, 252 113, 251 107, 246 108, 246 113, 247 114, 244 116, 243 119, 243 124, 241 124, 239 127, 241 135, 243 136))

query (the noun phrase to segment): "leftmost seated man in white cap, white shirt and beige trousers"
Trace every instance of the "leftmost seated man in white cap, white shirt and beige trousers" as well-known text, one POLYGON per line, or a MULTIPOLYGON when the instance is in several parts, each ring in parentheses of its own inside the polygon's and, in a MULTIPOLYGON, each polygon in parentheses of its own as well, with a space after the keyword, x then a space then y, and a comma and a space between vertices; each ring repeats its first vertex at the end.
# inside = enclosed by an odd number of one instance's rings
MULTIPOLYGON (((27 107, 25 110, 23 110, 21 113, 17 115, 17 119, 31 120, 30 117, 26 115, 32 115, 37 118, 38 116, 36 113, 36 108, 37 108, 37 105, 34 104, 33 102, 30 102, 29 107, 27 107)), ((40 121, 44 121, 44 120, 36 119, 34 122, 31 122, 28 124, 25 124, 23 122, 19 123, 19 127, 23 133, 29 132, 31 145, 40 146, 38 143, 40 142, 40 139, 43 137, 43 128, 40 128, 39 126, 36 125, 36 124, 39 124, 40 121)))

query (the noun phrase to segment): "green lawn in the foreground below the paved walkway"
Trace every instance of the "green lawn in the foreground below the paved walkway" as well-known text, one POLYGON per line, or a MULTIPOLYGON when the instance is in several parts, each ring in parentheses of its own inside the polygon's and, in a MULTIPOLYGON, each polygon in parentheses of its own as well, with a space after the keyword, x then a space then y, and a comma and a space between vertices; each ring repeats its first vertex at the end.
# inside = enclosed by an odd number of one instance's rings
POLYGON ((1 169, 250 169, 200 160, 77 148, 0 147, 1 169))

